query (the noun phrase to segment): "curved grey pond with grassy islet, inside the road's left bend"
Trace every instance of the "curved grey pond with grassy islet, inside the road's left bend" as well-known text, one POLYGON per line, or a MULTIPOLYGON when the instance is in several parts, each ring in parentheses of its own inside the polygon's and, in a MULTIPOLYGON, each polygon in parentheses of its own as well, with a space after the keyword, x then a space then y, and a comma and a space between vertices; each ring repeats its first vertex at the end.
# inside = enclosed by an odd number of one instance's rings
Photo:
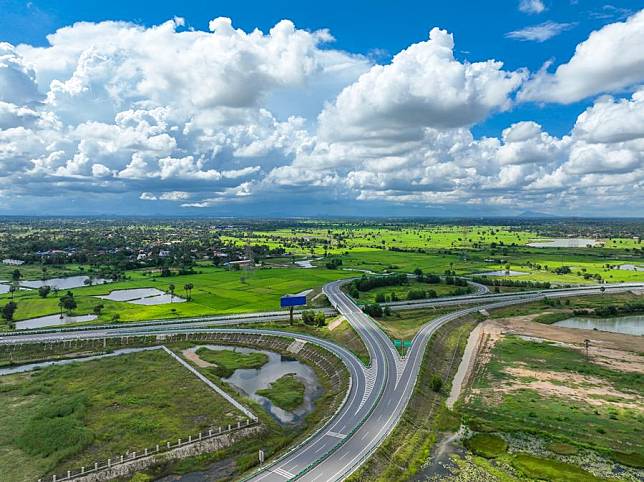
POLYGON ((239 393, 259 403, 280 424, 292 424, 302 420, 303 417, 313 411, 315 400, 322 395, 322 386, 315 371, 298 360, 289 359, 272 351, 224 345, 200 345, 190 348, 189 351, 196 352, 199 348, 234 350, 240 353, 264 353, 268 356, 268 362, 261 368, 240 368, 235 370, 230 377, 222 378, 222 380, 239 393), (268 398, 257 395, 258 390, 268 388, 272 382, 289 373, 294 373, 305 386, 304 403, 292 412, 282 410, 273 405, 273 402, 268 398))

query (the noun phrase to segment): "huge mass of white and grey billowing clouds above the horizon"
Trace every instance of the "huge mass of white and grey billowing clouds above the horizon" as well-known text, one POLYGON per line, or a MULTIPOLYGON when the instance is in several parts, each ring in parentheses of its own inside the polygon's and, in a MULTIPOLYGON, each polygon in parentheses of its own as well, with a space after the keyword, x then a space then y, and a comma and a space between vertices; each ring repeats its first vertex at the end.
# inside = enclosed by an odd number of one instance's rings
MULTIPOLYGON (((538 0, 520 8, 546 9, 538 0)), ((571 28, 558 25, 513 34, 543 41, 571 28)), ((278 203, 288 214, 314 200, 365 213, 641 214, 644 10, 537 72, 459 61, 454 37, 438 27, 385 64, 332 41, 289 20, 264 33, 228 18, 198 31, 175 18, 149 28, 76 23, 44 47, 0 43, 0 213, 87 196, 103 212, 127 203, 261 214, 278 203), (471 131, 519 104, 583 99, 592 105, 561 137, 530 119, 499 138, 471 131), (316 114, 288 112, 298 104, 316 114)))

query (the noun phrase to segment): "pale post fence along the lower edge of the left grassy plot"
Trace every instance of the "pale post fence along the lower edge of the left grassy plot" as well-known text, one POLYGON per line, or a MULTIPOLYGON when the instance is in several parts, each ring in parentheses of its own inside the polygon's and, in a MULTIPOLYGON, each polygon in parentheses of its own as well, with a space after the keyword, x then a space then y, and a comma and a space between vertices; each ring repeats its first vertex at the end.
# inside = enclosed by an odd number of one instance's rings
POLYGON ((237 422, 237 425, 228 425, 228 427, 217 427, 216 429, 211 428, 211 429, 208 429, 207 432, 199 432, 197 435, 194 435, 194 436, 188 435, 187 439, 177 439, 176 443, 165 442, 165 443, 157 444, 154 448, 151 448, 151 449, 148 449, 148 448, 143 449, 143 451, 140 451, 140 452, 126 452, 123 455, 117 455, 116 457, 109 458, 107 460, 96 461, 94 462, 94 465, 91 465, 88 467, 81 467, 79 470, 75 470, 75 471, 68 470, 67 473, 62 477, 59 477, 56 474, 54 474, 51 476, 51 479, 49 478, 38 479, 38 482, 47 482, 49 480, 51 480, 51 482, 62 482, 65 480, 72 480, 77 477, 82 477, 92 473, 100 472, 102 470, 110 469, 121 464, 129 463, 129 462, 132 462, 133 460, 150 457, 152 455, 157 455, 160 453, 170 452, 171 450, 174 450, 179 447, 185 447, 188 445, 196 444, 204 440, 219 437, 221 435, 235 432, 237 430, 241 430, 257 424, 258 422, 256 420, 247 418, 245 423, 242 423, 241 421, 239 421, 237 422))

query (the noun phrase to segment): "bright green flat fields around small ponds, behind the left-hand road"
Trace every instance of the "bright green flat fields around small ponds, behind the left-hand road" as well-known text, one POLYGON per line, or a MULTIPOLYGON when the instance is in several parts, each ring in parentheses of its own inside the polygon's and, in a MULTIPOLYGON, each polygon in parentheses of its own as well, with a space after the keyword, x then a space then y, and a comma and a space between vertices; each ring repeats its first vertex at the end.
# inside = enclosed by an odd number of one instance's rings
MULTIPOLYGON (((78 308, 74 314, 91 314, 93 308, 102 304, 104 309, 100 321, 108 322, 118 314, 120 321, 141 321, 149 319, 182 318, 227 313, 248 313, 253 311, 279 310, 280 296, 299 293, 305 289, 319 288, 329 281, 351 276, 350 272, 327 269, 260 269, 256 271, 227 271, 214 267, 199 267, 196 274, 155 277, 141 271, 128 273, 130 279, 117 283, 101 284, 91 287, 75 288, 78 308), (168 286, 176 286, 176 294, 183 295, 183 286, 192 283, 192 301, 169 303, 156 306, 134 305, 96 298, 113 290, 129 288, 157 288, 168 291, 168 286)), ((59 293, 62 295, 63 293, 59 293)), ((0 295, 0 304, 9 301, 10 296, 0 295)), ((18 309, 15 320, 59 312, 58 297, 50 294, 40 298, 36 291, 20 291, 15 295, 18 309)), ((2 325, 0 325, 1 327, 2 325)))

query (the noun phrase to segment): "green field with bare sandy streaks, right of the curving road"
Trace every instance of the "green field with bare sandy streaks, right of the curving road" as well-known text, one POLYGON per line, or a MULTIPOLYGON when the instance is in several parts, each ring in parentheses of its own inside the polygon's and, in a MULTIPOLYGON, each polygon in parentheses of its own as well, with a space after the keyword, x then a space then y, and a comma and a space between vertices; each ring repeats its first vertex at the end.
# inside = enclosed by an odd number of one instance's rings
POLYGON ((530 431, 614 455, 644 455, 644 376, 578 351, 507 336, 479 373, 464 412, 489 431, 530 431))

